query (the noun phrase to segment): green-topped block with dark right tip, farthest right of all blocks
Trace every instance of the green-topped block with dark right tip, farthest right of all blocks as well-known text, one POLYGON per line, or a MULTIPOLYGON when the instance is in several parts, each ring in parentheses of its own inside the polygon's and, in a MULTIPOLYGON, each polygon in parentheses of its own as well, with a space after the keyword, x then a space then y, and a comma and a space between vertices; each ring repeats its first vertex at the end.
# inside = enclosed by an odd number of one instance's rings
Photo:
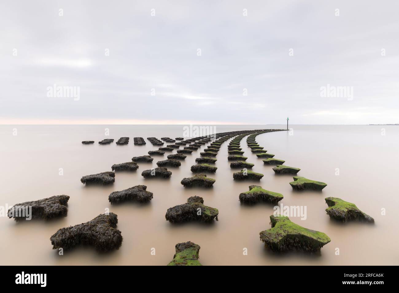
POLYGON ((354 203, 348 203, 338 197, 327 197, 327 214, 336 220, 347 222, 348 220, 358 220, 362 222, 374 223, 374 219, 365 214, 354 203))

